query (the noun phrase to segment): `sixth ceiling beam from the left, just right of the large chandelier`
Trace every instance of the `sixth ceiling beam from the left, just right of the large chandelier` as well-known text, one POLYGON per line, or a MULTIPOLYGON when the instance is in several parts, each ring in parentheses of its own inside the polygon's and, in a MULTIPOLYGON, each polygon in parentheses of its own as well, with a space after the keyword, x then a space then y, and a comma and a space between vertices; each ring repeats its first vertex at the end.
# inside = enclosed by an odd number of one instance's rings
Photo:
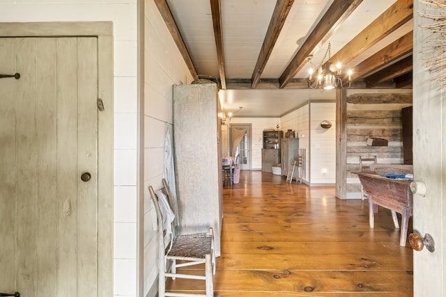
POLYGON ((370 56, 366 60, 362 61, 362 63, 353 67, 351 80, 354 81, 357 78, 365 77, 367 74, 378 70, 387 63, 392 63, 400 58, 403 58, 403 56, 411 54, 412 49, 413 31, 410 31, 398 40, 392 42, 390 45, 387 45, 387 47, 384 47, 380 51, 376 52, 376 54, 373 56, 370 56))

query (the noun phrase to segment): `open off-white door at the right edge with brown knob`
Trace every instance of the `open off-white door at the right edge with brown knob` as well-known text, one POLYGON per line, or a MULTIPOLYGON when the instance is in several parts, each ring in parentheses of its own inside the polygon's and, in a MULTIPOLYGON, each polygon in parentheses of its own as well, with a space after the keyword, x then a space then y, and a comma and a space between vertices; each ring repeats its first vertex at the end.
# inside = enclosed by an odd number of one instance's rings
MULTIPOLYGON (((414 1, 414 12, 425 4, 414 1)), ((435 251, 424 248, 413 254, 414 296, 446 296, 446 97, 438 83, 439 73, 429 73, 423 63, 431 37, 419 13, 414 13, 413 43, 413 175, 424 179, 426 195, 413 195, 413 230, 431 234, 435 251)), ((440 65, 442 69, 445 65, 440 65)))

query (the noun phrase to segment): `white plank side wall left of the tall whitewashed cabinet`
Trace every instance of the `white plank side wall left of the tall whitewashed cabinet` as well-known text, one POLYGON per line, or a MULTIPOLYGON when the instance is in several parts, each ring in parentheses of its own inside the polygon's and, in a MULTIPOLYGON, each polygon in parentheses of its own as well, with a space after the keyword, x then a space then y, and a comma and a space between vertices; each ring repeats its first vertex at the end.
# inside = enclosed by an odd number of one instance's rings
POLYGON ((148 186, 162 186, 164 132, 167 125, 173 131, 172 86, 191 83, 192 76, 153 0, 144 6, 144 296, 155 296, 156 214, 148 186))

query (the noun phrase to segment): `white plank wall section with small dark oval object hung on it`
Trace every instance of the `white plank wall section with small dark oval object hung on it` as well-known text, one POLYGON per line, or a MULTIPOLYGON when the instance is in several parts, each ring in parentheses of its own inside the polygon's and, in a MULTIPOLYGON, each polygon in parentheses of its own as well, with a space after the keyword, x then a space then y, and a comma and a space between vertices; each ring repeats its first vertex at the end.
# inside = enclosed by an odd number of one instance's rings
POLYGON ((336 183, 336 102, 311 102, 309 104, 310 133, 310 184, 336 183), (330 129, 321 122, 332 123, 330 129))

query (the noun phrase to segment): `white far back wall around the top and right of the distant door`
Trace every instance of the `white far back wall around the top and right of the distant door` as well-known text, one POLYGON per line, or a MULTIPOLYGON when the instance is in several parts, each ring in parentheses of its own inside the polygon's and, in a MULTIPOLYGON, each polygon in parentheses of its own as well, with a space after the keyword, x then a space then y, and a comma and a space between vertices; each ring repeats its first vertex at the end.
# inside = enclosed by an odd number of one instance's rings
POLYGON ((263 130, 277 129, 279 118, 232 118, 231 124, 252 124, 251 130, 251 170, 262 169, 263 130))

